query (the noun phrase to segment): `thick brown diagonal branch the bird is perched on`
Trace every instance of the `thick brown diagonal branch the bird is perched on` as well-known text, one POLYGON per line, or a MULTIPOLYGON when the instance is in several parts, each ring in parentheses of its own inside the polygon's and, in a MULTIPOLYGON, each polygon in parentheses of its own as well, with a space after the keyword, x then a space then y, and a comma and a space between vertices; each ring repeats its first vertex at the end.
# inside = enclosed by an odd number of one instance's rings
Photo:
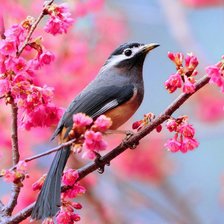
MULTIPOLYGON (((196 93, 199 89, 201 89, 203 86, 205 86, 209 82, 209 77, 204 76, 202 77, 196 84, 195 92, 196 93)), ((171 103, 163 114, 158 116, 152 123, 147 125, 145 128, 143 128, 138 133, 131 136, 129 139, 124 140, 119 146, 108 152, 106 155, 100 158, 100 164, 99 162, 90 162, 86 166, 78 169, 79 178, 77 181, 83 179, 88 174, 92 173, 93 171, 99 169, 102 165, 106 165, 110 163, 114 158, 116 158, 118 155, 120 155, 122 152, 127 150, 129 147, 136 145, 142 138, 144 138, 146 135, 151 133, 158 125, 162 124, 164 121, 166 121, 178 108, 184 104, 184 102, 194 93, 183 93, 181 94, 176 100, 174 100, 173 103, 171 103)), ((62 191, 66 191, 68 187, 62 187, 62 191)), ((17 213, 15 216, 12 216, 10 220, 6 221, 5 224, 15 224, 19 221, 22 221, 29 217, 32 212, 32 208, 34 207, 34 203, 26 208, 24 208, 21 212, 17 213), (22 218, 21 218, 22 217, 22 218)))

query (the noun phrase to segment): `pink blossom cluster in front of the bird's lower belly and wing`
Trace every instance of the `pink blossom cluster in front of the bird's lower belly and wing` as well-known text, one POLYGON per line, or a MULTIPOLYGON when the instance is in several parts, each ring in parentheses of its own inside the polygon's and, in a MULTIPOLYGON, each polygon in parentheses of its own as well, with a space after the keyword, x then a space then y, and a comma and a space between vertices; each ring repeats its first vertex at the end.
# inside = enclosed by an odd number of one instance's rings
POLYGON ((100 115, 95 121, 84 113, 73 115, 73 128, 69 133, 70 138, 76 138, 74 151, 81 152, 83 157, 94 159, 96 152, 106 149, 107 143, 103 140, 103 133, 112 125, 110 118, 100 115))

